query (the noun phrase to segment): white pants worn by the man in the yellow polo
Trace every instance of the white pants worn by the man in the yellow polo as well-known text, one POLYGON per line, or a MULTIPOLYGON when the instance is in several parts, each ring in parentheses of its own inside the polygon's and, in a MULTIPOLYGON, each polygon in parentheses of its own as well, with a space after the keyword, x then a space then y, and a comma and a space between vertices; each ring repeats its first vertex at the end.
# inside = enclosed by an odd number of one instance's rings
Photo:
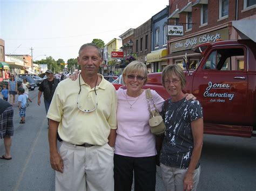
POLYGON ((56 190, 114 190, 113 155, 109 144, 82 147, 62 142, 63 173, 56 171, 56 190))

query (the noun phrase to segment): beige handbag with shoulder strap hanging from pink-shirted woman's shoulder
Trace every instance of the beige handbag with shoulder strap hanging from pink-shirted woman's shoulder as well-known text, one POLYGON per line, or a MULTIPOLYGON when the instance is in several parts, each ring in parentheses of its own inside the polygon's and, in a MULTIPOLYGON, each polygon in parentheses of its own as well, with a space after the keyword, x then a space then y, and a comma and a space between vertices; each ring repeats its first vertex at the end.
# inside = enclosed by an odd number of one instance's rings
POLYGON ((157 110, 156 105, 154 104, 154 100, 153 100, 150 88, 146 90, 146 100, 147 100, 147 104, 149 106, 149 112, 150 112, 149 125, 150 125, 151 133, 153 133, 154 135, 162 135, 165 132, 165 124, 162 116, 160 116, 157 110), (154 110, 150 109, 150 101, 154 106, 154 110))

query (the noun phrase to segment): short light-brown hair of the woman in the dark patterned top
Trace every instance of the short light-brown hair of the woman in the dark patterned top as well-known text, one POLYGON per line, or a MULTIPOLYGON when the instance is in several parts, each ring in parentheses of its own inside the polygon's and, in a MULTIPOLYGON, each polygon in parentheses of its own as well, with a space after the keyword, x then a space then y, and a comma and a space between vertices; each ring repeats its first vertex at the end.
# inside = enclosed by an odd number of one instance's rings
POLYGON ((168 65, 164 68, 162 72, 162 84, 165 87, 164 81, 166 77, 170 77, 173 74, 177 75, 181 81, 181 88, 186 86, 186 77, 184 75, 183 69, 179 65, 168 65))

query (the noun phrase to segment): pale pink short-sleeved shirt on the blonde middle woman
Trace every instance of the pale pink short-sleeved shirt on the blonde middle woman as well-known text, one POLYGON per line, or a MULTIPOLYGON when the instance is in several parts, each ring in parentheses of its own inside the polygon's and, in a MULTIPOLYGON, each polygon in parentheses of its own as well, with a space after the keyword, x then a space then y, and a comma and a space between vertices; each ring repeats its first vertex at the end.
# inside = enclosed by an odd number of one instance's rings
MULTIPOLYGON (((164 100, 156 91, 151 90, 151 93, 160 112, 164 100)), ((117 99, 117 138, 114 153, 126 157, 156 155, 156 140, 150 132, 150 114, 145 91, 138 97, 130 97, 126 95, 126 90, 118 89, 117 99)), ((150 105, 152 110, 153 104, 150 105)))

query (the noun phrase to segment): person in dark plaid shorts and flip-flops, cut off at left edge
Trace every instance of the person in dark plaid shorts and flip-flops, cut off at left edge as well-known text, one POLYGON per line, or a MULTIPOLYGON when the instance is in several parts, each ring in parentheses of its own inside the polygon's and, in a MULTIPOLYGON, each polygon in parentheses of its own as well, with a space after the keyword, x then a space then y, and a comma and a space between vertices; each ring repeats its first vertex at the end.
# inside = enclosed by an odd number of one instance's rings
POLYGON ((0 138, 4 139, 5 153, 0 159, 11 160, 11 137, 14 136, 14 109, 5 100, 0 99, 0 138))

